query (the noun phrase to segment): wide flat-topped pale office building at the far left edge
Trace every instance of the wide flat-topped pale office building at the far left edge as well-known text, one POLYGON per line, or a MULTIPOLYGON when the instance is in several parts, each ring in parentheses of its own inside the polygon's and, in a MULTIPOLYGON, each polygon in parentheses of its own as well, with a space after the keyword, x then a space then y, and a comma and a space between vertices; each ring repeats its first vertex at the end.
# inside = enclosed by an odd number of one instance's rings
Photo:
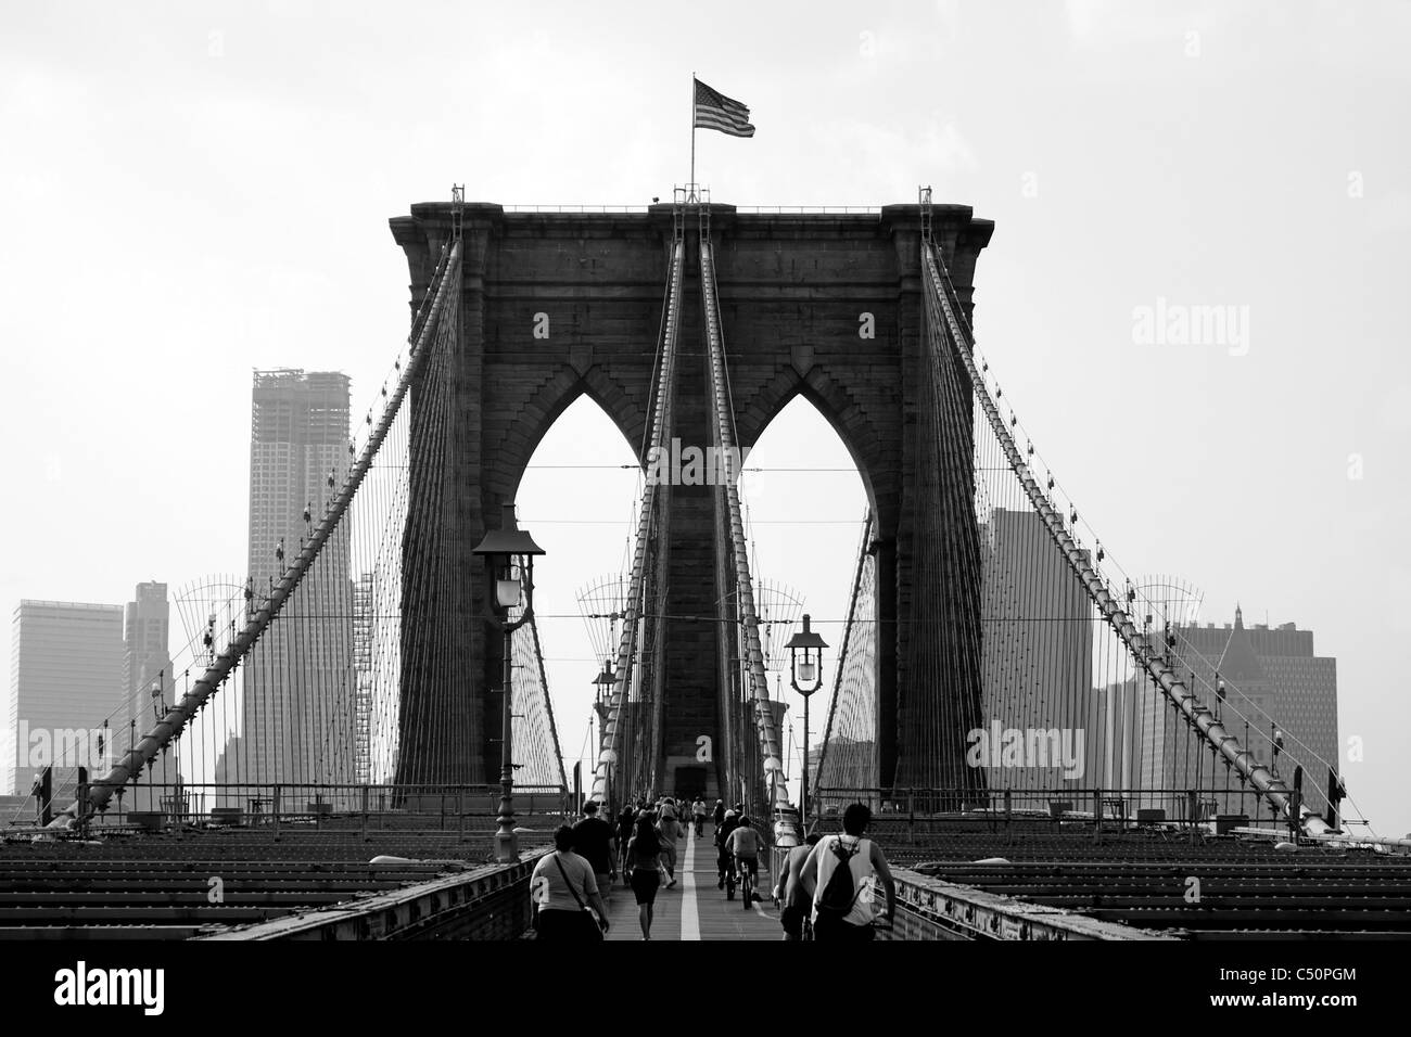
POLYGON ((13 636, 0 790, 27 794, 52 763, 58 796, 72 789, 75 766, 93 772, 126 748, 113 744, 127 714, 123 607, 25 600, 13 636))

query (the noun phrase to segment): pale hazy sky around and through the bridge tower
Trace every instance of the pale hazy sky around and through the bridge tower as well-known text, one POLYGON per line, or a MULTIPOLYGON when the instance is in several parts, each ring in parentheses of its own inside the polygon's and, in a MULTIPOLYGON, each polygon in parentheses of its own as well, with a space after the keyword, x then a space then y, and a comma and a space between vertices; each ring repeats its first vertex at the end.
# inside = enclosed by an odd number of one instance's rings
MULTIPOLYGON (((1349 789, 1381 832, 1411 830, 1411 7, 509 7, 6 6, 7 610, 243 569, 250 371, 343 370, 356 401, 377 392, 406 330, 387 219, 453 182, 501 203, 669 196, 696 71, 758 127, 700 134, 717 202, 913 202, 931 183, 996 222, 976 334, 1084 518, 1129 571, 1199 587, 1206 619, 1240 601, 1314 629, 1343 738, 1363 739, 1349 789), (1134 310, 1158 306, 1235 308, 1240 340, 1141 341, 1134 310)), ((844 454, 818 425, 792 412, 755 460, 830 467, 844 454)), ((617 463, 614 435, 577 406, 536 463, 617 463)), ((634 478, 586 504, 546 492, 550 474, 531 473, 521 514, 555 552, 545 611, 571 612, 577 573, 618 564, 634 478), (547 525, 569 518, 618 525, 547 525)), ((852 474, 749 490, 772 522, 861 509, 852 474)), ((856 529, 756 532, 765 574, 837 617, 856 529)), ((555 622, 571 756, 593 674, 555 622)))

